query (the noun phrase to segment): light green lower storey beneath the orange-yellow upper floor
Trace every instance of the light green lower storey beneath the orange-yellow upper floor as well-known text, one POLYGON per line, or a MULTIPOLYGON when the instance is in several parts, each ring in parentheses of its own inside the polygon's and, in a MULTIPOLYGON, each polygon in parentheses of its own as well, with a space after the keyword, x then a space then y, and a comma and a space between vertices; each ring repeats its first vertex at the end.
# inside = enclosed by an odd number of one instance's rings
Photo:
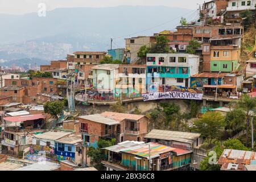
POLYGON ((212 72, 232 72, 237 67, 237 60, 230 61, 210 61, 210 71, 212 72))

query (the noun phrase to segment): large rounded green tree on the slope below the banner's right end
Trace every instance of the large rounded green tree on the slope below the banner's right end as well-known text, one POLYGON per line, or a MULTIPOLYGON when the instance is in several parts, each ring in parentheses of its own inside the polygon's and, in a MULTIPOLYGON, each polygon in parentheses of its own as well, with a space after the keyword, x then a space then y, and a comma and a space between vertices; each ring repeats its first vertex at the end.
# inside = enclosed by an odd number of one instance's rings
POLYGON ((225 119, 219 112, 207 112, 202 118, 197 119, 193 123, 193 130, 201 133, 207 140, 208 147, 212 146, 212 142, 221 137, 225 127, 225 119))

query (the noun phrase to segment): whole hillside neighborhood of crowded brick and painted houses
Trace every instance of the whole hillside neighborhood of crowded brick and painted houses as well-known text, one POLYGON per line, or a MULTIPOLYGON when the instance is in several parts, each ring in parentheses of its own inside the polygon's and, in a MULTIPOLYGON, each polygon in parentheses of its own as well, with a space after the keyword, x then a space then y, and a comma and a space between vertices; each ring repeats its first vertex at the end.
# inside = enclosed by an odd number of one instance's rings
POLYGON ((256 171, 256 0, 198 7, 125 47, 2 67, 0 171, 256 171))

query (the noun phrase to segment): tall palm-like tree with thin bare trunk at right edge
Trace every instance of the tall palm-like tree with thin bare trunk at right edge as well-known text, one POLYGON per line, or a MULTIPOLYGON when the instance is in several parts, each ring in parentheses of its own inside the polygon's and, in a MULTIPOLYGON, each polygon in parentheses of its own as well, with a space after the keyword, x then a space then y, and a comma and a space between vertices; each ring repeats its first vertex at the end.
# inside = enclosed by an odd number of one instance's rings
POLYGON ((256 108, 256 98, 251 98, 247 94, 243 94, 242 99, 238 102, 238 107, 243 111, 246 118, 246 147, 248 147, 249 125, 250 119, 254 117, 256 108))

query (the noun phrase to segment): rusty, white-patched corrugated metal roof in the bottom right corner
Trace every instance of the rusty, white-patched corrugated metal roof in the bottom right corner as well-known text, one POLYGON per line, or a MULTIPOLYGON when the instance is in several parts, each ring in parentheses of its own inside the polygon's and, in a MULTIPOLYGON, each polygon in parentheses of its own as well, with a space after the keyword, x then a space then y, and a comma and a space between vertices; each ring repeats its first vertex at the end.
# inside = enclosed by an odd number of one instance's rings
POLYGON ((217 164, 222 165, 222 170, 242 170, 251 160, 256 159, 256 152, 225 149, 218 159, 217 164), (234 165, 230 165, 230 163, 234 165), (235 164, 238 164, 237 167, 235 164))

